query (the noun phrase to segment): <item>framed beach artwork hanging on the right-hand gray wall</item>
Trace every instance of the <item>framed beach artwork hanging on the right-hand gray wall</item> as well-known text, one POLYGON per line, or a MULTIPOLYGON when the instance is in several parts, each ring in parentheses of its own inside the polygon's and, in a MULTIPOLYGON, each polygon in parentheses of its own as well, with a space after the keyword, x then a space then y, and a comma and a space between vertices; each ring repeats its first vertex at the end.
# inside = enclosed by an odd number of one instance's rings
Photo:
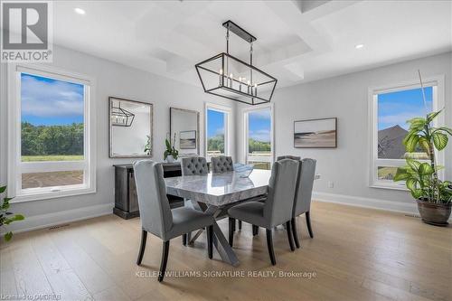
POLYGON ((337 118, 297 120, 294 122, 294 147, 337 147, 337 118))

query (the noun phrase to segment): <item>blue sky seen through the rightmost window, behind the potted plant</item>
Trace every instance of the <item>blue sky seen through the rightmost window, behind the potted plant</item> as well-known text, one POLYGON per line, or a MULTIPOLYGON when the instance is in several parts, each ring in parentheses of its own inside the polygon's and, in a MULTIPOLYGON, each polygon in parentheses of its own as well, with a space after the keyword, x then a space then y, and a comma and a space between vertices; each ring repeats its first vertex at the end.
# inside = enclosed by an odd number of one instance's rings
POLYGON ((410 118, 425 117, 432 111, 433 88, 424 88, 428 112, 422 99, 422 90, 406 89, 378 95, 378 129, 399 125, 408 129, 410 118))

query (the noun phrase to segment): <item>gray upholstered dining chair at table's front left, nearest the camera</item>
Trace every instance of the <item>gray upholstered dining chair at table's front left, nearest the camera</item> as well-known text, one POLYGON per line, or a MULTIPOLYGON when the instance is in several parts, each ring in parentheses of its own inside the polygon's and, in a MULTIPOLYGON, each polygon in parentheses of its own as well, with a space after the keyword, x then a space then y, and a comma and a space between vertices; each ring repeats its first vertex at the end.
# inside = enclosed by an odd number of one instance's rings
POLYGON ((209 258, 212 259, 212 215, 188 207, 170 209, 166 198, 166 185, 162 164, 152 160, 141 160, 134 164, 137 184, 138 206, 141 220, 141 245, 137 265, 141 264, 146 249, 147 232, 163 240, 163 253, 158 281, 165 277, 170 240, 187 231, 207 228, 209 258))

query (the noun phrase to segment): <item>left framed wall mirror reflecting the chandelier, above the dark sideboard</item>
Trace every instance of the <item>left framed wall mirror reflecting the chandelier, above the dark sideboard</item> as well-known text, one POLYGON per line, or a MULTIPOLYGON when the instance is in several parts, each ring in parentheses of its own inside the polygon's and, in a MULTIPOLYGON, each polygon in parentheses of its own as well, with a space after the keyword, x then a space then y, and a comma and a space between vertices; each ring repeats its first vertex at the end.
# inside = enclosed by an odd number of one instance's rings
POLYGON ((109 157, 152 156, 153 105, 146 102, 108 98, 109 157))

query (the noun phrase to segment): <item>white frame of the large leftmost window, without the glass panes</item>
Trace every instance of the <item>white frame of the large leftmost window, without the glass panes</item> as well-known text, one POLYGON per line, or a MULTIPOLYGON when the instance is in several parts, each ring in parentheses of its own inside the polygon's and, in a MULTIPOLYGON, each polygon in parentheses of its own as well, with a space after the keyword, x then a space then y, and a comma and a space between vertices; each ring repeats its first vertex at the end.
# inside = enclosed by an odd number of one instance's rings
POLYGON ((8 194, 11 202, 29 202, 96 193, 95 80, 87 75, 36 64, 8 65, 8 194), (22 162, 21 73, 63 80, 84 86, 84 159, 82 161, 22 162), (83 184, 22 189, 22 174, 83 170, 83 184))

